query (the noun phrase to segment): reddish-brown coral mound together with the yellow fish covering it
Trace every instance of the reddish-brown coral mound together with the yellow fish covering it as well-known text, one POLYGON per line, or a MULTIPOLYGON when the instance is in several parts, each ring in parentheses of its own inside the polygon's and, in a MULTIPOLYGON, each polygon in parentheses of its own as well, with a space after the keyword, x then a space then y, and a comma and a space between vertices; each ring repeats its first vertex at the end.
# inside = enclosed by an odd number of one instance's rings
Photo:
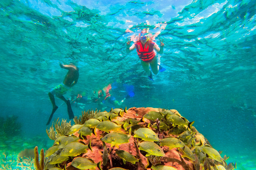
MULTIPOLYGON (((75 122, 83 123, 87 133, 77 129, 70 136, 58 136, 46 151, 50 156, 44 169, 56 166, 67 170, 235 168, 233 163, 227 165, 219 152, 192 126, 194 122, 189 122, 177 110, 88 111, 75 122), (93 114, 94 118, 91 117, 93 114)), ((36 164, 38 166, 38 162, 36 164)))

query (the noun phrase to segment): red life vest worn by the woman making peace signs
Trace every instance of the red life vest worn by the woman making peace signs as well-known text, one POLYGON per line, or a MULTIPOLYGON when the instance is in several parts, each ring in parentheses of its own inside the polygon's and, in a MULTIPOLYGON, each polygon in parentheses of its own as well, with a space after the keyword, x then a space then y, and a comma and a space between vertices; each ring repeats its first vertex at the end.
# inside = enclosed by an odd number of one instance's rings
POLYGON ((140 41, 135 43, 138 56, 140 57, 140 59, 142 61, 150 62, 153 60, 153 58, 156 54, 154 52, 154 48, 153 48, 154 45, 155 45, 155 42, 151 42, 151 43, 146 42, 144 44, 144 48, 143 48, 143 45, 140 41))

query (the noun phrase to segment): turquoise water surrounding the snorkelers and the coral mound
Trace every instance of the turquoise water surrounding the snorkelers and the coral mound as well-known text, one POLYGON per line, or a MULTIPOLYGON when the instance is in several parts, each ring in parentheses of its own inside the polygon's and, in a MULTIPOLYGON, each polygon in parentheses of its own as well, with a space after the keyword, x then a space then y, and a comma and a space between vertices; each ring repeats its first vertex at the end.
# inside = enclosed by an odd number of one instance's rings
MULTIPOLYGON (((7 136, 0 140, 0 151, 9 153, 5 164, 25 148, 51 146, 48 92, 67 72, 58 62, 72 62, 80 75, 66 98, 89 97, 114 83, 111 94, 121 101, 133 86, 135 96, 123 108, 176 109, 229 156, 227 163, 256 169, 256 1, 5 0, 0 7, 1 120, 16 116, 20 126, 17 131, 10 123, 15 132, 1 131, 7 136), (143 28, 158 35, 158 45, 164 39, 157 56, 166 71, 154 82, 136 51, 125 51, 127 38, 143 28)), ((52 120, 58 117, 68 119, 65 105, 52 120)))

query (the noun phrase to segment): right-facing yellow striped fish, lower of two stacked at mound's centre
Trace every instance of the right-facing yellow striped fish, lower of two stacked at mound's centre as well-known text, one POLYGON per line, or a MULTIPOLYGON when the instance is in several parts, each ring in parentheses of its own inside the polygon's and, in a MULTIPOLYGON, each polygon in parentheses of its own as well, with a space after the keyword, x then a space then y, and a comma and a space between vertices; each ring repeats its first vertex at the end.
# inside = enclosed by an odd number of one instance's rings
POLYGON ((143 141, 141 143, 138 142, 138 147, 140 150, 144 150, 145 152, 147 152, 146 157, 150 155, 155 155, 155 156, 165 155, 162 148, 154 142, 150 142, 150 141, 143 141))

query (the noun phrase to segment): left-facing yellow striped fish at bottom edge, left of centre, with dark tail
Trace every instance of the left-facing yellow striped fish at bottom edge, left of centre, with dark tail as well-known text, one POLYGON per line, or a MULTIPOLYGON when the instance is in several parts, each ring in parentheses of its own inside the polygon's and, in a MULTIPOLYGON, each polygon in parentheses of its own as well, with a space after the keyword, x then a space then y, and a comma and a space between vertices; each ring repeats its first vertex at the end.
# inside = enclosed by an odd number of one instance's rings
POLYGON ((100 164, 101 161, 96 164, 92 159, 87 159, 84 157, 75 157, 71 163, 73 167, 78 169, 96 169, 96 167, 98 167, 100 170, 102 170, 100 164))

